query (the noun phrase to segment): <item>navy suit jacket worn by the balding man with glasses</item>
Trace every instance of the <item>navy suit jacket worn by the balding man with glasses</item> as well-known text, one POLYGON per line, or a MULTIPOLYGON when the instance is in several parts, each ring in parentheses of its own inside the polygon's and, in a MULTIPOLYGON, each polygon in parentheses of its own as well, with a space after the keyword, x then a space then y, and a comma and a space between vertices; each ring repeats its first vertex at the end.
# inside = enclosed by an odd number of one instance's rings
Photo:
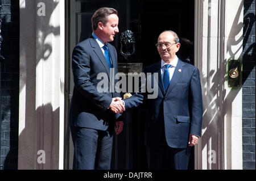
MULTIPOLYGON (((157 62, 143 70, 145 74, 158 73, 158 96, 156 99, 146 98, 145 144, 162 144, 165 131, 170 147, 187 148, 189 134, 201 136, 203 104, 199 70, 179 60, 165 92, 160 66, 161 62, 157 62)), ((125 108, 138 104, 141 96, 145 98, 147 94, 134 94, 125 99, 125 108)))

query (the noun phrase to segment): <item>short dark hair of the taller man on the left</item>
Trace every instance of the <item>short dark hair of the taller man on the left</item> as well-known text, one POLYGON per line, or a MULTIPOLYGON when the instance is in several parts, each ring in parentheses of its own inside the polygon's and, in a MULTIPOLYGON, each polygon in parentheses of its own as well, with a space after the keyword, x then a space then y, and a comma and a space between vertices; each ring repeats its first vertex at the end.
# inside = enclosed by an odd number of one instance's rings
POLYGON ((108 22, 108 16, 112 14, 117 15, 117 10, 110 7, 101 7, 100 9, 96 10, 91 19, 92 30, 96 30, 98 23, 100 22, 105 26, 105 24, 108 22))

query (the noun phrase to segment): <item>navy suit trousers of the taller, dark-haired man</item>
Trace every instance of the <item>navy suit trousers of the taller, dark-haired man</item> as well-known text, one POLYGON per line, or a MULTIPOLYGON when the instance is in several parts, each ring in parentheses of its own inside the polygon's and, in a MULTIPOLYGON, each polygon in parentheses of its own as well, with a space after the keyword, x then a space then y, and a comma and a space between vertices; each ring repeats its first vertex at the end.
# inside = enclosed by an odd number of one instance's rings
POLYGON ((74 143, 74 170, 109 170, 113 135, 108 131, 71 127, 74 143))

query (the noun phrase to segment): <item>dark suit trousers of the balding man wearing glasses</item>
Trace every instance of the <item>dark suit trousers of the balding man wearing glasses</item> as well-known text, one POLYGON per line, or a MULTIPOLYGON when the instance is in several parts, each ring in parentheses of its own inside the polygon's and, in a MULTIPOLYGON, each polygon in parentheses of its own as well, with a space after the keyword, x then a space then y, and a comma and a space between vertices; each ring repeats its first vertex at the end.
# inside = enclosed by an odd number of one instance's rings
POLYGON ((191 147, 171 148, 166 144, 146 146, 148 169, 188 170, 191 147))

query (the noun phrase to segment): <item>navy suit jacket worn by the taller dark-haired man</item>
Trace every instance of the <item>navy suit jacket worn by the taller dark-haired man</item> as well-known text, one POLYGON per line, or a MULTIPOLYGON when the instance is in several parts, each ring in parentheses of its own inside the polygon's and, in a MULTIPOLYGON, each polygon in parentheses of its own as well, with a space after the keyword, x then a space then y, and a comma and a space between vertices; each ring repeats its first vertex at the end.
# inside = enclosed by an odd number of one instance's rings
MULTIPOLYGON (((112 57, 114 75, 117 73, 117 52, 113 45, 108 44, 112 57)), ((77 44, 72 54, 72 70, 75 87, 69 112, 69 124, 75 127, 93 128, 105 131, 109 125, 113 125, 119 113, 114 114, 108 110, 112 98, 120 96, 116 92, 110 92, 110 70, 105 56, 97 41, 90 37, 77 44), (98 92, 97 79, 99 73, 108 75, 106 92, 98 92)), ((105 85, 105 86, 106 86, 105 85)))

